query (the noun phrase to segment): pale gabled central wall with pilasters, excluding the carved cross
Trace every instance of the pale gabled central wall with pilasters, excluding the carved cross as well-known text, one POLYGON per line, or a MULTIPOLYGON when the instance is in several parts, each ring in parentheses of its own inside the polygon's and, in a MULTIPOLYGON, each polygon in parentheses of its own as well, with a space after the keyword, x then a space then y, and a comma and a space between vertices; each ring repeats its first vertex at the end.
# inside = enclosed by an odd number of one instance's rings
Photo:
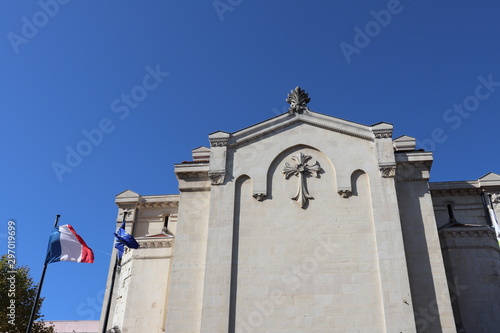
POLYGON ((392 141, 319 121, 229 144, 211 192, 201 332, 415 332, 394 180, 379 165, 394 163, 392 141), (304 208, 291 200, 298 177, 282 174, 299 152, 322 168, 304 208))

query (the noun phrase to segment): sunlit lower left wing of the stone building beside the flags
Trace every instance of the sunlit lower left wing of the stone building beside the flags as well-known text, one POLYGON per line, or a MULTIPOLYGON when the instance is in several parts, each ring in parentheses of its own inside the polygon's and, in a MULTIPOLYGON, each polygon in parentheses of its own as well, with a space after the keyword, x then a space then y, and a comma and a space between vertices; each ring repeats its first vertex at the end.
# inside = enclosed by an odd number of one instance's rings
MULTIPOLYGON (((178 201, 177 195, 141 196, 130 190, 117 195, 117 228, 126 212, 126 231, 140 247, 126 248, 116 270, 106 329, 118 327, 124 333, 143 332, 145 328, 151 332, 165 330, 178 201), (166 216, 170 222, 164 233, 166 216)), ((103 330, 109 303, 115 256, 113 249, 99 331, 103 330)))

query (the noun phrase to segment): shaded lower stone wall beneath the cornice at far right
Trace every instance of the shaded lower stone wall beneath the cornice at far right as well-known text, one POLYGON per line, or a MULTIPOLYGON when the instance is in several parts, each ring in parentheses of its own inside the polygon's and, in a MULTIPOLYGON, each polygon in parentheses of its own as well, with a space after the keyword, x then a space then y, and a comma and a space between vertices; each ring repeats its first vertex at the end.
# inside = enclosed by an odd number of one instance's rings
POLYGON ((440 230, 458 328, 467 333, 498 332, 500 249, 490 227, 440 230))

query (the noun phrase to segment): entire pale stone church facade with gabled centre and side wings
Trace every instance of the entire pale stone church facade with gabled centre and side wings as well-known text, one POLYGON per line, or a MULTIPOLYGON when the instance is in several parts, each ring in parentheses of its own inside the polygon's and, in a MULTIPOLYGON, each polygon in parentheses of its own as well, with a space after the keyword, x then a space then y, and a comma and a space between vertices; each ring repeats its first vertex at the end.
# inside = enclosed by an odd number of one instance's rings
POLYGON ((391 124, 287 101, 210 134, 179 194, 117 195, 140 248, 114 283, 111 262, 101 329, 500 332, 500 176, 430 183, 432 152, 391 124))

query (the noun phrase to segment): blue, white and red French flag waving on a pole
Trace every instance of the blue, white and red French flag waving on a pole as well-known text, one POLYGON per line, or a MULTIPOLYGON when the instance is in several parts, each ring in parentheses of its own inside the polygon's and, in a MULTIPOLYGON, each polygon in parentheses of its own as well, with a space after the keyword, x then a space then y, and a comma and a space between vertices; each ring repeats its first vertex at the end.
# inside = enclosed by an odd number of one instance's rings
POLYGON ((94 252, 69 224, 55 227, 50 234, 45 264, 58 261, 94 262, 94 252))

